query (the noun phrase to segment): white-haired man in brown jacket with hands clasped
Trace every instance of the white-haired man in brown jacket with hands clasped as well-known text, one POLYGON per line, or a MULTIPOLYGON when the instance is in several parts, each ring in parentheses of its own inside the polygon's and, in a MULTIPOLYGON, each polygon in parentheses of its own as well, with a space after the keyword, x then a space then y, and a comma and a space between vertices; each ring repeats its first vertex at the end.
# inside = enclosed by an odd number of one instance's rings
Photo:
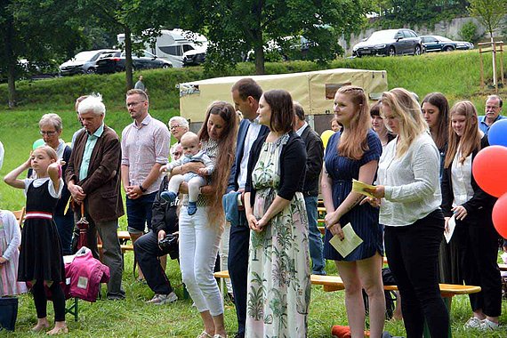
POLYGON ((75 205, 76 221, 90 222, 87 245, 98 258, 97 231, 102 239, 103 262, 109 267, 108 299, 125 299, 122 288, 123 258, 117 237, 118 218, 124 214, 120 194, 120 141, 104 125, 106 107, 100 95, 91 95, 78 107, 85 133, 76 137, 65 180, 75 205))

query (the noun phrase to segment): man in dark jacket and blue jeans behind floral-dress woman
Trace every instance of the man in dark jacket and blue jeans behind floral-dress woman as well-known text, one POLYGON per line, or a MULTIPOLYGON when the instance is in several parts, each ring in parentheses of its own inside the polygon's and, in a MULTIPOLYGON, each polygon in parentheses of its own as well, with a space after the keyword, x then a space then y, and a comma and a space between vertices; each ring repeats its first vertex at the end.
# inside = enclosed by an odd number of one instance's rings
POLYGON ((310 245, 311 273, 326 275, 326 261, 323 255, 322 236, 317 227, 318 176, 324 161, 324 144, 318 133, 315 133, 304 119, 302 105, 294 102, 295 132, 301 136, 306 146, 306 176, 302 195, 308 214, 308 239, 310 245))

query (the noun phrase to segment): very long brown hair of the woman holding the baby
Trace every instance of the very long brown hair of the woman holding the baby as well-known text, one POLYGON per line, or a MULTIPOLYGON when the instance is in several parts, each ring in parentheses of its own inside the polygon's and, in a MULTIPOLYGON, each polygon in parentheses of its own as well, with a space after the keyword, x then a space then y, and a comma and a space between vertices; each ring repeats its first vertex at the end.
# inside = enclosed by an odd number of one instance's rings
POLYGON ((210 224, 218 221, 221 225, 224 221, 221 197, 225 194, 225 190, 227 189, 230 167, 234 162, 236 152, 237 116, 236 110, 229 103, 224 101, 213 102, 206 111, 205 122, 198 133, 199 140, 201 141, 210 140, 207 125, 210 115, 212 114, 220 116, 225 122, 220 139, 218 140, 218 156, 214 163, 215 170, 211 178, 213 195, 210 197, 209 208, 210 224))

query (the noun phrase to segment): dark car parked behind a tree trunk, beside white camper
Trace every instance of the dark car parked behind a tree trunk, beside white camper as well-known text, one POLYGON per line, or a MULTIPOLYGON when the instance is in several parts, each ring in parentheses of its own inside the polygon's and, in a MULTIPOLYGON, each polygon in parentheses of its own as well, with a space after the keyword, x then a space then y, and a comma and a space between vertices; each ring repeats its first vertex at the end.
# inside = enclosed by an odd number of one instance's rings
MULTIPOLYGON (((141 56, 133 53, 133 69, 172 68, 169 60, 157 58, 151 52, 142 51, 141 56)), ((112 52, 97 60, 97 74, 115 73, 125 71, 125 52, 112 52)))

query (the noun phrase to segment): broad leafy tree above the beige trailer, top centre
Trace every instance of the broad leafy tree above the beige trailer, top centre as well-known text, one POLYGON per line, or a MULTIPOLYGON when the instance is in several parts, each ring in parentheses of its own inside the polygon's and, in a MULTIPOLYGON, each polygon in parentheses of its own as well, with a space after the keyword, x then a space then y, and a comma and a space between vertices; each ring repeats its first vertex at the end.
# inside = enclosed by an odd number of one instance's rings
MULTIPOLYGON (((365 14, 364 0, 201 0, 189 6, 174 0, 180 23, 211 41, 206 66, 221 69, 234 65, 254 50, 257 74, 264 73, 265 50, 287 47, 291 37, 304 36, 313 44, 312 58, 333 59, 341 48, 342 34, 358 29, 365 14)), ((293 47, 293 45, 288 45, 293 47)))

